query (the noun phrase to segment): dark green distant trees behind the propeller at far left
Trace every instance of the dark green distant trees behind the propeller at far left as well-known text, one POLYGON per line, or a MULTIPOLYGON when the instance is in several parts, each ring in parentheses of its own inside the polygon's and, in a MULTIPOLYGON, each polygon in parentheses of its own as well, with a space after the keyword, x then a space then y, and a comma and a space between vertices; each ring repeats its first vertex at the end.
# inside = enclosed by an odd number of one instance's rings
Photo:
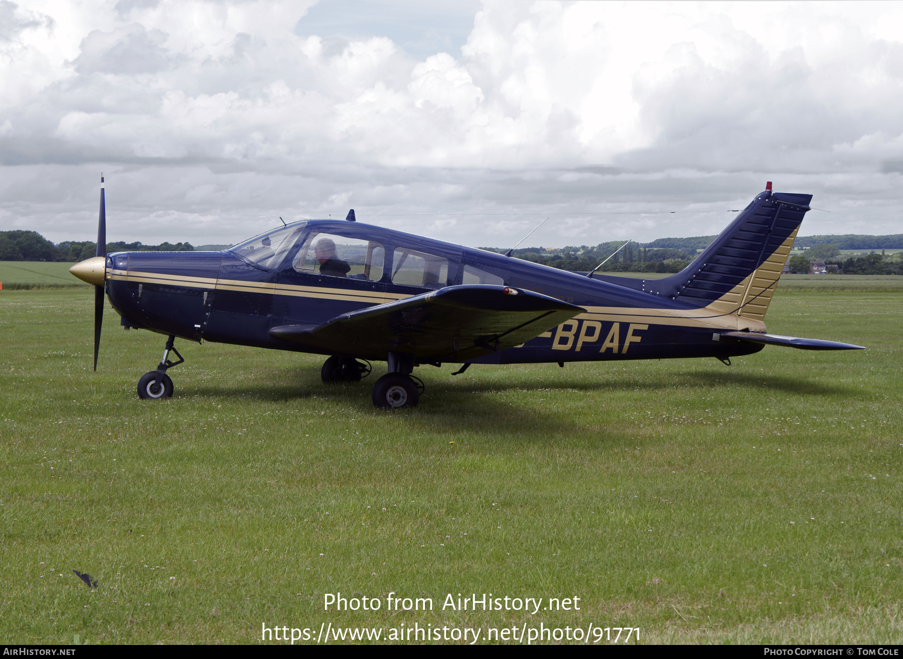
MULTIPOLYGON (((98 244, 64 240, 54 245, 36 231, 0 231, 0 261, 66 261, 76 263, 96 255, 98 244)), ((139 242, 107 243, 110 252, 193 252, 191 243, 142 245, 139 242)))

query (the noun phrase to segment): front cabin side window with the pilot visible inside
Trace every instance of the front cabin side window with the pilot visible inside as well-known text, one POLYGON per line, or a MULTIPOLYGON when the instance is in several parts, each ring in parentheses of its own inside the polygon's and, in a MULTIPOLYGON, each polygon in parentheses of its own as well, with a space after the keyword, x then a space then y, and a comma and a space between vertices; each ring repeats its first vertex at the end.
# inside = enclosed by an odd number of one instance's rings
POLYGON ((383 278, 386 247, 361 240, 314 231, 293 261, 296 272, 378 282, 383 278))

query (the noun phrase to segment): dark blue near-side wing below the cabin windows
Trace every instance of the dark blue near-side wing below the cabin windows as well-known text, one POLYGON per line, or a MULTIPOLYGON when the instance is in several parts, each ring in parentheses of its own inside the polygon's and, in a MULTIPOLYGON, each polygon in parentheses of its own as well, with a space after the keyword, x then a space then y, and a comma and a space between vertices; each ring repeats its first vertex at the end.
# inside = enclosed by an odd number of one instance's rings
POLYGON ((507 286, 448 286, 351 311, 321 325, 285 325, 270 336, 335 355, 465 361, 513 348, 583 313, 582 307, 507 286))

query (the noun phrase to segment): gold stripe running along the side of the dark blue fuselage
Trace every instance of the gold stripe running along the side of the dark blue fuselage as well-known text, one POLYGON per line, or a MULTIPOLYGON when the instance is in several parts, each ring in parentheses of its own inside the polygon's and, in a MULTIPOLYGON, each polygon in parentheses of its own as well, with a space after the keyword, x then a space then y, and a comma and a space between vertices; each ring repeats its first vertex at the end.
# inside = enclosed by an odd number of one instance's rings
MULTIPOLYGON (((784 263, 781 263, 783 267, 784 263)), ((319 298, 321 300, 344 300, 347 302, 369 302, 383 304, 413 297, 399 293, 370 291, 349 291, 343 288, 319 288, 316 286, 291 286, 281 283, 245 282, 237 280, 216 280, 205 277, 191 277, 182 274, 160 274, 111 270, 109 279, 126 282, 157 283, 162 285, 206 288, 217 291, 260 292, 273 295, 293 295, 297 297, 319 298)), ((713 309, 630 309, 625 307, 586 306, 587 313, 575 316, 575 320, 601 320, 607 322, 636 322, 651 325, 675 325, 679 327, 721 328, 727 330, 765 330, 760 320, 741 318, 730 311, 713 309), (720 312, 721 311, 721 312, 720 312)))

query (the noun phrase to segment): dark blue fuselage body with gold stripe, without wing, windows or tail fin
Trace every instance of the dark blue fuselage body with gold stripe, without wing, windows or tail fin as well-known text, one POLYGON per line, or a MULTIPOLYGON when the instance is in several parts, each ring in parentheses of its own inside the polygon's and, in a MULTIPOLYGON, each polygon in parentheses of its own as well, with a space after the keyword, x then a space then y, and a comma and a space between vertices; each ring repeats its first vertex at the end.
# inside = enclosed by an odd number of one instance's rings
MULTIPOLYGON (((719 340, 723 331, 764 330, 759 320, 706 311, 698 303, 656 292, 651 282, 627 285, 536 265, 491 252, 361 223, 309 220, 289 225, 291 245, 268 261, 242 250, 125 252, 107 256, 107 295, 126 327, 184 339, 306 351, 272 338, 285 325, 319 325, 340 314, 467 283, 474 269, 493 283, 540 292, 587 310, 524 346, 470 361, 564 362, 665 357, 732 357, 761 346, 719 340), (299 271, 293 259, 312 233, 368 241, 384 249, 382 275, 329 276, 299 271), (447 261, 444 281, 393 283, 400 250, 447 261), (646 289, 646 290, 644 290, 646 289)), ((318 234, 318 235, 319 235, 318 234)), ((264 243, 269 248, 269 243, 264 243)), ((259 250, 258 250, 259 252, 259 250)), ((412 257, 413 258, 413 257, 412 257)), ((676 276, 676 275, 675 275, 676 276)), ((357 355, 382 358, 378 355, 357 355)))

